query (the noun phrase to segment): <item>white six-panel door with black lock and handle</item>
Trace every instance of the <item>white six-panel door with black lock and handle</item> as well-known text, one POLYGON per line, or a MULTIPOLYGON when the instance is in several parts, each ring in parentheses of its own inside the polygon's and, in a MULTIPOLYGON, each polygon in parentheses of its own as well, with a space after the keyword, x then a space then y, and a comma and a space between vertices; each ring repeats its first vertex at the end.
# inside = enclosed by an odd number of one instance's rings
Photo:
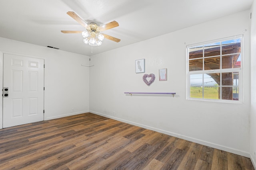
POLYGON ((4 54, 3 127, 44 120, 44 60, 4 54))

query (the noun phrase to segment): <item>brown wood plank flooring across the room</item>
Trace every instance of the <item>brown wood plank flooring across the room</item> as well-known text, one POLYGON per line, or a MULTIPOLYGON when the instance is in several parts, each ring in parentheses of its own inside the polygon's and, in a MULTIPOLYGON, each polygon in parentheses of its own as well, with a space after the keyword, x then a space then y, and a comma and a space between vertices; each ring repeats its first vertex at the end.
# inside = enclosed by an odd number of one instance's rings
POLYGON ((92 113, 0 129, 1 170, 254 170, 249 158, 92 113))

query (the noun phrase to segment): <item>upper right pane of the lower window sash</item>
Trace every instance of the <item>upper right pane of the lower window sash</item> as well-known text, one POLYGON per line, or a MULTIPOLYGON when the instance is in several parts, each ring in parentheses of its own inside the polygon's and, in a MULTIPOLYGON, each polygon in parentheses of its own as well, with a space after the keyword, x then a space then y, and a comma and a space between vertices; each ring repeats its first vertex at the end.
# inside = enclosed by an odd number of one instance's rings
POLYGON ((222 86, 238 86, 238 72, 224 72, 222 73, 222 86))

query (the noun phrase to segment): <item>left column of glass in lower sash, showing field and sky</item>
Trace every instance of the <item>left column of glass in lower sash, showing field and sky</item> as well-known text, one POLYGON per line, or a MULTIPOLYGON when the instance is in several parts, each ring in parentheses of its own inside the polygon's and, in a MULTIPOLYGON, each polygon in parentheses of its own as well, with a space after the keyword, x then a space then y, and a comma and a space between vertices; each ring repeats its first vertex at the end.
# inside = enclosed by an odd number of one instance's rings
POLYGON ((203 74, 190 75, 190 98, 203 98, 203 74))

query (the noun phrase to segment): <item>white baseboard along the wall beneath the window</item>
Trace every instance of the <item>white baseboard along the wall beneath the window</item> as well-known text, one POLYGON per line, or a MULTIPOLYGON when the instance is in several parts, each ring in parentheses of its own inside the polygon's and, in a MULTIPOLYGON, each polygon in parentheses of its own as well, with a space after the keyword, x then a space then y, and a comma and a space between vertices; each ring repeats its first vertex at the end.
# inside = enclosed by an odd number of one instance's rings
MULTIPOLYGON (((220 150, 224 150, 226 152, 231 152, 231 153, 234 153, 234 154, 245 156, 247 158, 251 158, 251 160, 252 160, 252 157, 251 157, 250 153, 249 152, 244 152, 243 150, 238 150, 238 149, 234 149, 234 148, 218 145, 216 143, 211 143, 211 142, 208 142, 208 141, 203 141, 203 140, 200 140, 200 139, 196 139, 196 138, 180 135, 178 133, 173 133, 173 132, 170 132, 170 131, 166 131, 166 130, 162 130, 162 129, 157 129, 157 128, 150 127, 150 126, 147 126, 147 125, 142 125, 140 123, 136 123, 136 122, 132 122, 132 121, 127 121, 127 120, 120 119, 120 118, 117 118, 117 117, 113 117, 113 116, 110 116, 110 115, 105 115, 105 114, 102 114, 102 113, 98 113, 98 112, 92 111, 92 110, 90 110, 89 112, 90 113, 94 113, 96 115, 101 115, 101 116, 104 116, 104 117, 108 117, 108 118, 111 118, 111 119, 122 121, 122 122, 125 122, 125 123, 129 123, 131 125, 135 125, 135 126, 138 126, 138 127, 143 127, 143 128, 146 128, 146 129, 149 129, 149 130, 152 130, 152 131, 156 131, 156 132, 159 132, 159 133, 164 133, 166 135, 170 135, 170 136, 173 136, 173 137, 178 137, 180 139, 184 139, 184 140, 187 140, 187 141, 191 141, 191 142, 198 143, 198 144, 201 144, 201 145, 205 145, 205 146, 208 146, 208 147, 212 147, 212 148, 215 148, 215 149, 220 149, 220 150)), ((254 164, 254 167, 255 167, 255 164, 254 164)))

